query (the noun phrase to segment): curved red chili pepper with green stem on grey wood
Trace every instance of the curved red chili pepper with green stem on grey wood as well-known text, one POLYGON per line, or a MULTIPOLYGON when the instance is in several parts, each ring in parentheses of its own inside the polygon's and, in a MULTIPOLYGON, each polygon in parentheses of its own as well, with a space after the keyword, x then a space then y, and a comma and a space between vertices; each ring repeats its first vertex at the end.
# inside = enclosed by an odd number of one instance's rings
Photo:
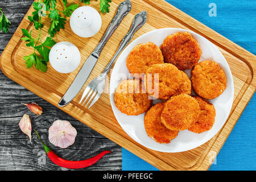
POLYGON ((103 151, 100 154, 94 156, 93 158, 86 159, 86 160, 79 160, 79 161, 72 161, 72 160, 65 160, 57 156, 40 138, 38 132, 35 130, 36 135, 38 135, 39 140, 42 142, 44 146, 44 150, 46 150, 46 154, 48 155, 49 159, 57 166, 69 168, 69 169, 79 169, 91 166, 92 164, 96 163, 98 160, 102 158, 105 154, 111 153, 110 151, 103 151))

